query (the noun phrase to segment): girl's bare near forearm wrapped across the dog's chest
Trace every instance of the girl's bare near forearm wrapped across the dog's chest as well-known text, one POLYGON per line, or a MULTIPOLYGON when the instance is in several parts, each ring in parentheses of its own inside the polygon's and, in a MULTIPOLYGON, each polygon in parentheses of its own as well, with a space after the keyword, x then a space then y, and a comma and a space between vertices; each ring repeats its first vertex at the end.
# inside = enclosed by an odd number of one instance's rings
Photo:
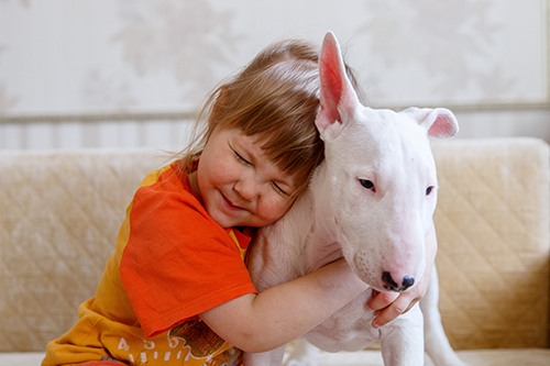
POLYGON ((222 303, 200 318, 238 348, 267 352, 308 332, 367 287, 344 259, 339 259, 258 295, 222 303))

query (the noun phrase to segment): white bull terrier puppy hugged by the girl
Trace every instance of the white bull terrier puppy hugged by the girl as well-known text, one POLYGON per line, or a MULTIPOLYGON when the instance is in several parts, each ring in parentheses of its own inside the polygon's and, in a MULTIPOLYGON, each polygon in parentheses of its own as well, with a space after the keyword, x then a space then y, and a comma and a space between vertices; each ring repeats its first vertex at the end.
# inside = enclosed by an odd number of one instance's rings
MULTIPOLYGON (((426 351, 437 365, 465 365, 441 325, 436 270, 422 311, 416 304, 376 330, 373 311, 365 306, 373 289, 405 291, 422 277, 438 187, 428 135, 454 135, 457 120, 446 109, 397 113, 362 106, 332 33, 324 37, 319 73, 316 125, 326 159, 286 215, 258 233, 250 260, 254 284, 262 291, 343 256, 371 288, 305 334, 310 344, 353 352, 380 340, 385 365, 419 366, 426 328, 426 351)), ((316 365, 315 354, 301 356, 293 365, 316 365)), ((246 354, 244 364, 280 365, 283 358, 284 347, 246 354)))

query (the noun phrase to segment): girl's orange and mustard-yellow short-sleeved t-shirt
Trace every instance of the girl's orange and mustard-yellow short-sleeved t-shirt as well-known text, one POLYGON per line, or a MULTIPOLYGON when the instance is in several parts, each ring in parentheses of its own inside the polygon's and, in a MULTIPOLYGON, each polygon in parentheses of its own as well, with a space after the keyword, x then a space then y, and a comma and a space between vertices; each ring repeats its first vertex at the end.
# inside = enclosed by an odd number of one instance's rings
POLYGON ((128 207, 96 297, 47 345, 46 365, 112 357, 132 365, 239 365, 241 352, 198 314, 255 292, 250 236, 207 213, 175 166, 150 174, 128 207))

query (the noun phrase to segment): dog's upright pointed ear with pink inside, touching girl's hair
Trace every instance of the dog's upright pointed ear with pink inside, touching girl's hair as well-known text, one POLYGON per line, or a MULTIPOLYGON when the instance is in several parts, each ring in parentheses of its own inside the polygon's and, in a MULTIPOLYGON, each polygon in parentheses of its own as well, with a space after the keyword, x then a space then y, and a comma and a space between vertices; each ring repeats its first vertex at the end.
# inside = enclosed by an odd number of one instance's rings
POLYGON ((340 46, 332 32, 327 33, 319 57, 319 77, 321 81, 321 109, 316 119, 320 132, 338 123, 343 126, 346 119, 342 113, 354 109, 359 99, 345 75, 340 46))

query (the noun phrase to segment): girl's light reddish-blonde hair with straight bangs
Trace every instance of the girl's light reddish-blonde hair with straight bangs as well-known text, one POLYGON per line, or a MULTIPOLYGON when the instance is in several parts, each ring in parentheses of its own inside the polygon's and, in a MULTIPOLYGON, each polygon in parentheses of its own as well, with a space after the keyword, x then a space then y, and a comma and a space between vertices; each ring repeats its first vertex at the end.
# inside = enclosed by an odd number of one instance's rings
POLYGON ((283 171, 297 175, 294 196, 304 192, 323 159, 323 143, 314 123, 319 109, 318 62, 319 48, 305 41, 283 41, 264 48, 210 95, 191 143, 182 152, 179 168, 190 171, 215 129, 240 129, 246 136, 257 136, 283 171))

